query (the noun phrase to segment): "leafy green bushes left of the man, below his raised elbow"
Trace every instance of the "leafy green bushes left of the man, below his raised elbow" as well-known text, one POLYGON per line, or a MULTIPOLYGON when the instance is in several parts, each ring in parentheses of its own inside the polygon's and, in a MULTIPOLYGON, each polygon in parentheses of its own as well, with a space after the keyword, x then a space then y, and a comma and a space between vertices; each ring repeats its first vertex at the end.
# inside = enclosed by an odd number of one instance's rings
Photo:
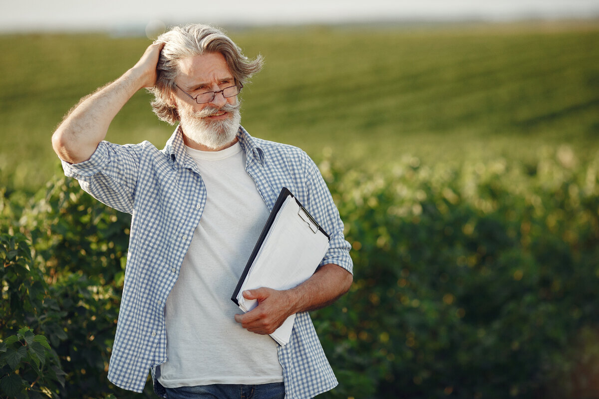
MULTIPOLYGON (((7 255, 0 339, 12 343, 19 328, 43 334, 53 355, 51 371, 44 374, 52 383, 41 388, 47 396, 139 397, 107 380, 131 223, 129 215, 117 213, 66 178, 54 179, 31 199, 19 193, 2 197, 0 231, 7 232, 2 234, 7 255), (15 261, 17 251, 23 255, 15 261)), ((16 397, 38 397, 36 385, 45 380, 29 386, 32 380, 18 370, 2 368, 2 375, 27 382, 16 397)), ((151 397, 151 384, 147 388, 151 397)), ((13 397, 9 392, 0 386, 1 398, 13 397)))

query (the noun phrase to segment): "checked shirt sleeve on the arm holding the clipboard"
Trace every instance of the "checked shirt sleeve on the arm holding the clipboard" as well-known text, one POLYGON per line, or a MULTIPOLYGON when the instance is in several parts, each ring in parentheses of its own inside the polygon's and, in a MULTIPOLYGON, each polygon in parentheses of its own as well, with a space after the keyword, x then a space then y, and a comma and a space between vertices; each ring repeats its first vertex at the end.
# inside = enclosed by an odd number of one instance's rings
POLYGON ((352 246, 345 239, 343 221, 341 221, 337 206, 332 199, 331 191, 326 186, 325 179, 313 160, 307 154, 305 158, 307 159, 305 165, 308 177, 306 184, 308 203, 310 204, 308 211, 331 236, 329 249, 319 266, 328 263, 337 264, 353 274, 353 262, 349 254, 352 246))

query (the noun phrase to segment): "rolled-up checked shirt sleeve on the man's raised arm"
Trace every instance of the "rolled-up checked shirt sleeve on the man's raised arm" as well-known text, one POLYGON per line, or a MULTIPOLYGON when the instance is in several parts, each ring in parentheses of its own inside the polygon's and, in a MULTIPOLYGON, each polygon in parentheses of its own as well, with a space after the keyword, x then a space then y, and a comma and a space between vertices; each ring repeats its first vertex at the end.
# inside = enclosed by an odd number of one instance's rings
POLYGON ((139 172, 135 147, 102 141, 89 160, 75 164, 62 161, 62 169, 95 199, 131 214, 139 172))

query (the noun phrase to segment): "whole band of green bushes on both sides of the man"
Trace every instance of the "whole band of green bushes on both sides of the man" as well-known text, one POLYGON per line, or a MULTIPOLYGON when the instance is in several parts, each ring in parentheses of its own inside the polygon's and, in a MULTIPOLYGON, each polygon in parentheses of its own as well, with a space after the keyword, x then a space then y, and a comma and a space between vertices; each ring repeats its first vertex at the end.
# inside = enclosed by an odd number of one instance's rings
MULTIPOLYGON (((340 381, 323 398, 597 397, 599 157, 319 166, 355 263, 313 314, 340 381)), ((153 397, 106 379, 128 215, 66 178, 0 215, 0 397, 153 397)))

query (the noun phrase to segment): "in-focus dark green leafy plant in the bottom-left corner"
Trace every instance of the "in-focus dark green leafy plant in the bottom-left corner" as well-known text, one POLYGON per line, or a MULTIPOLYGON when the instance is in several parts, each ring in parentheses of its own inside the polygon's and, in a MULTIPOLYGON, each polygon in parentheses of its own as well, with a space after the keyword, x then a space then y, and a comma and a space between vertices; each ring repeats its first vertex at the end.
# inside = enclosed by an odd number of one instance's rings
POLYGON ((25 236, 0 234, 0 260, 0 397, 58 397, 65 380, 56 352, 46 336, 22 327, 43 331, 59 316, 25 236))

